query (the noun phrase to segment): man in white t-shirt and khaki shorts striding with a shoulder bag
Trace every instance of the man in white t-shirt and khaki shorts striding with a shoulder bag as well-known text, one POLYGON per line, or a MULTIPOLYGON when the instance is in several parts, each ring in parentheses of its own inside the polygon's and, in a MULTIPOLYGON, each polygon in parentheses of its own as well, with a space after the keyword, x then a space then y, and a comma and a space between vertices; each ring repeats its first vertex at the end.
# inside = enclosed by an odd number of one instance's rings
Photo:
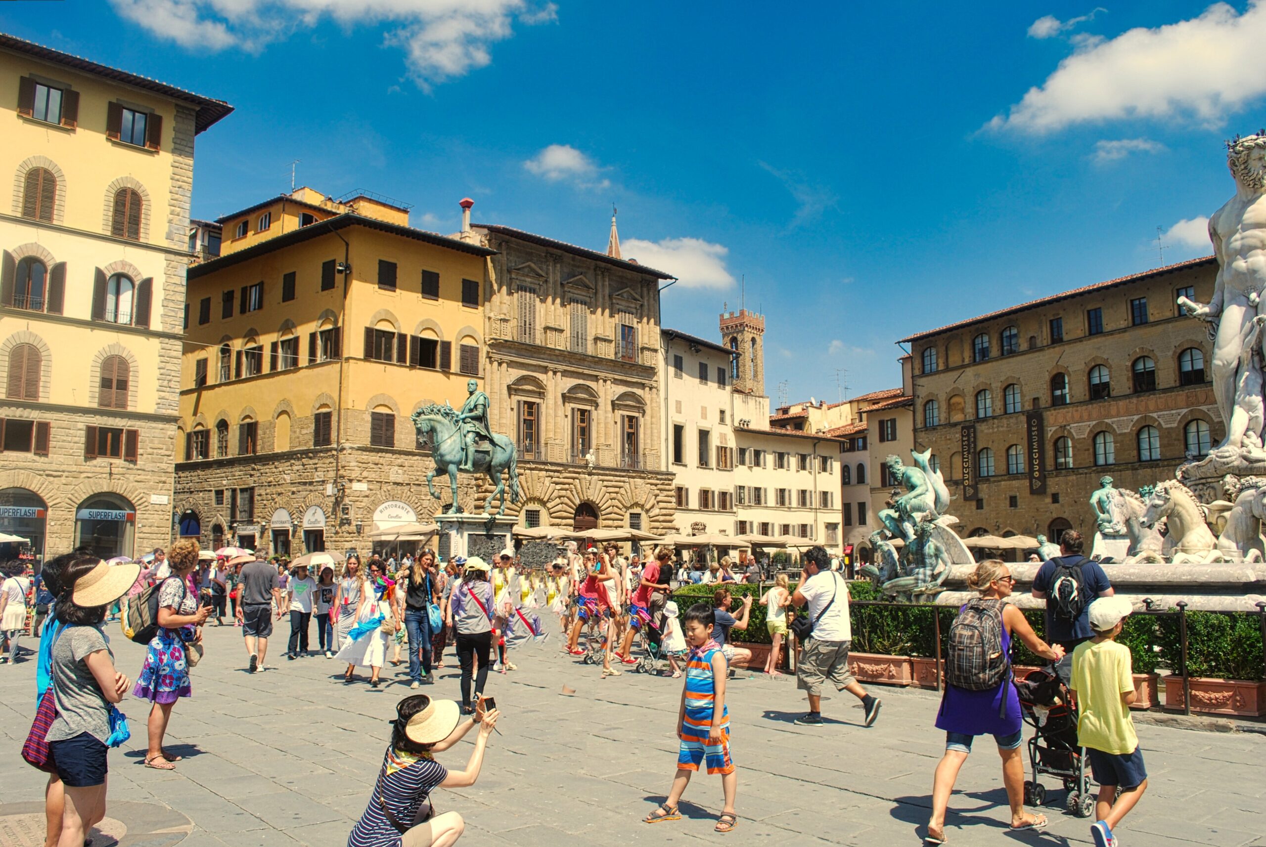
POLYGON ((803 727, 822 726, 822 684, 830 681, 836 690, 848 692, 862 702, 866 726, 879 717, 881 700, 866 693, 848 673, 848 650, 852 647, 852 625, 848 621, 848 583, 830 570, 830 556, 822 546, 804 554, 804 578, 791 595, 796 606, 809 607, 814 622, 813 635, 804 642, 796 665, 796 688, 809 694, 809 714, 796 718, 803 727))

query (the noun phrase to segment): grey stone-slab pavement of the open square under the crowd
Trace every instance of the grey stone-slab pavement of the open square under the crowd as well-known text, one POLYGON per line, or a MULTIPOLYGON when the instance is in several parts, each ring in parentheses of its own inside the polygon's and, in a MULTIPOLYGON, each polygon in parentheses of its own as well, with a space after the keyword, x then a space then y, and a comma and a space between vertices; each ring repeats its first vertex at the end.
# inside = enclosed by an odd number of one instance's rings
MULTIPOLYGON (((175 771, 143 766, 147 704, 125 700, 133 737, 110 753, 110 801, 187 815, 195 826, 184 847, 343 847, 368 800, 394 704, 409 694, 406 666, 389 665, 389 684, 377 690, 365 681, 344 686, 337 660, 286 661, 285 631, 279 625, 273 633, 268 670, 248 675, 241 630, 206 630, 194 698, 177 704, 167 734, 167 746, 185 756, 175 771)), ((118 666, 134 676, 143 649, 115 625, 108 632, 118 666)), ((457 698, 452 651, 446 660, 437 684, 422 690, 457 698)), ((827 726, 805 728, 793 723, 804 709, 793 678, 741 675, 729 697, 741 822, 722 836, 713 832, 720 780, 706 775, 691 783, 682 820, 641 823, 672 777, 680 680, 600 679, 599 669, 563 656, 557 636, 511 660, 517 671, 490 675, 504 736, 492 737, 479 784, 434 795, 439 810, 465 815, 462 843, 919 843, 943 743, 932 728, 934 693, 875 686, 884 708, 870 729, 857 702, 842 694, 823 707, 827 726), (565 695, 563 686, 576 693, 565 695)), ((42 775, 18 755, 34 712, 34 671, 33 655, 0 667, 0 790, 9 804, 43 796, 42 775)), ((1142 724, 1138 734, 1151 788, 1120 829, 1122 843, 1266 846, 1266 738, 1142 724)), ((986 742, 960 776, 951 843, 1090 843, 1089 822, 1062 813, 1063 791, 1052 779, 1047 832, 1006 832, 1001 772, 986 742)), ((441 760, 461 767, 468 751, 463 743, 441 760)))

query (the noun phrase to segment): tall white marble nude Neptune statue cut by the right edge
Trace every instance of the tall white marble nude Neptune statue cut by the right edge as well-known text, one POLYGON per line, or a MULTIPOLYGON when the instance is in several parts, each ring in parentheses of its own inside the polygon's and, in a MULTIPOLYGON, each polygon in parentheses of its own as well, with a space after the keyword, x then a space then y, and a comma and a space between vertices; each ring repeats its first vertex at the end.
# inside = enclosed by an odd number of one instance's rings
POLYGON ((1262 348, 1260 315, 1266 314, 1266 130, 1227 142, 1227 166, 1236 195, 1209 219, 1218 259, 1213 298, 1179 305, 1208 321, 1213 335, 1213 396, 1227 436, 1215 455, 1262 458, 1262 348))

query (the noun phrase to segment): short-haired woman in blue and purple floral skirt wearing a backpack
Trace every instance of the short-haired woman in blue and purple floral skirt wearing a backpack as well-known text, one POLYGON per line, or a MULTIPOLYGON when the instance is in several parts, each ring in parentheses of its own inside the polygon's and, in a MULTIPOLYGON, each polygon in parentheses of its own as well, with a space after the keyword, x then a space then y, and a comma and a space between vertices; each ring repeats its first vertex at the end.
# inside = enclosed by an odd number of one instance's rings
POLYGON ((162 748, 171 709, 182 697, 192 697, 189 683, 189 643, 201 643, 203 623, 211 613, 210 606, 199 606, 197 595, 189 590, 189 574, 197 568, 197 542, 182 539, 171 547, 167 560, 171 575, 158 588, 158 631, 149 640, 146 664, 137 678, 135 697, 149 700, 149 748, 146 766, 170 771, 180 756, 168 756, 162 748))

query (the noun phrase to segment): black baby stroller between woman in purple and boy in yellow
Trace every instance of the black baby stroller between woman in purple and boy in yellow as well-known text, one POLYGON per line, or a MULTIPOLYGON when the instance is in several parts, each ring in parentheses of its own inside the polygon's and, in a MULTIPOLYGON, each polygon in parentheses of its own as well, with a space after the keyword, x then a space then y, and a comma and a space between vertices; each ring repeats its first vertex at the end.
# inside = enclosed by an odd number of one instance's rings
POLYGON ((1095 793, 1086 774, 1086 748, 1077 743, 1077 710, 1070 704, 1069 688, 1053 667, 1031 671, 1015 683, 1024 723, 1033 727, 1029 765, 1033 779, 1024 783, 1024 803, 1043 805, 1046 786, 1039 776, 1063 780, 1063 808, 1079 818, 1095 813, 1095 793))

